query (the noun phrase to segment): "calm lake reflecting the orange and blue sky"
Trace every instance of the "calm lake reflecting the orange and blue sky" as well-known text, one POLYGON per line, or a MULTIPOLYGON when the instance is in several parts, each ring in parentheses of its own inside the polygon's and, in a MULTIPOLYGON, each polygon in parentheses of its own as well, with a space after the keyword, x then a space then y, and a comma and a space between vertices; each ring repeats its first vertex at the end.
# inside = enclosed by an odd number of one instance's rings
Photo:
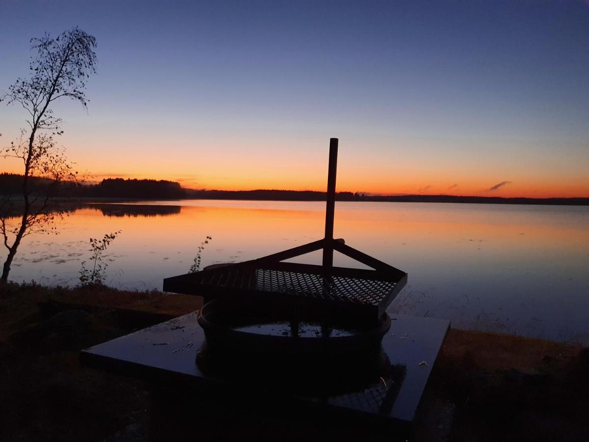
MULTIPOLYGON (((57 222, 59 235, 25 238, 10 279, 75 285, 88 240, 121 230, 104 255, 107 284, 161 289, 207 235, 204 266, 320 239, 324 223, 323 202, 89 204, 57 222)), ((409 273, 392 312, 589 344, 589 207, 337 202, 335 238, 409 273)), ((363 267, 337 252, 334 263, 363 267)))

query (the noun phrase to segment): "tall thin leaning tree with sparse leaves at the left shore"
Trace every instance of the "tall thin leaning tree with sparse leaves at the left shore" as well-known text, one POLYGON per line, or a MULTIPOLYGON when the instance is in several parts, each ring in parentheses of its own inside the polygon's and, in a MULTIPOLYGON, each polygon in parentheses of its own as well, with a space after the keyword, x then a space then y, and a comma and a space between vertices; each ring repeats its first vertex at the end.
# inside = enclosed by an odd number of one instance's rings
POLYGON ((18 140, 0 153, 4 158, 22 160, 24 166, 18 199, 11 193, 0 199, 0 229, 8 250, 0 277, 2 283, 8 281, 22 238, 30 233, 55 231, 51 223, 61 212, 52 207, 51 200, 59 183, 75 181, 78 173, 53 138, 63 131, 61 118, 53 114, 52 103, 58 98, 70 98, 86 107, 86 79, 95 72, 96 64, 96 39, 78 27, 57 38, 48 34, 32 38, 31 43, 31 50, 37 54, 31 57, 30 77, 18 78, 8 93, 0 97, 0 101, 6 100, 7 104, 27 111, 27 128, 22 128, 18 140), (21 222, 11 219, 15 205, 22 212, 21 222))

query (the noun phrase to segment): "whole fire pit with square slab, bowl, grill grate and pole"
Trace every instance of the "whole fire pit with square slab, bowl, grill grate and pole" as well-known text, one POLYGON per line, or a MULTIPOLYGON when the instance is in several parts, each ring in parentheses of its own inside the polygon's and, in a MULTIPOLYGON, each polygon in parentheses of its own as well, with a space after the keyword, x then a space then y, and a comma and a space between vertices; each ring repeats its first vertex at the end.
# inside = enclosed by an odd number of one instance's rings
POLYGON ((216 404, 221 414, 254 410, 260 428, 276 413, 407 438, 449 321, 389 318, 406 273, 333 239, 336 157, 332 138, 325 238, 164 279, 165 291, 209 302, 87 348, 82 363, 153 382, 153 421, 164 412, 183 434, 216 404), (323 265, 282 262, 318 249, 323 265), (373 270, 334 267, 333 250, 373 270))

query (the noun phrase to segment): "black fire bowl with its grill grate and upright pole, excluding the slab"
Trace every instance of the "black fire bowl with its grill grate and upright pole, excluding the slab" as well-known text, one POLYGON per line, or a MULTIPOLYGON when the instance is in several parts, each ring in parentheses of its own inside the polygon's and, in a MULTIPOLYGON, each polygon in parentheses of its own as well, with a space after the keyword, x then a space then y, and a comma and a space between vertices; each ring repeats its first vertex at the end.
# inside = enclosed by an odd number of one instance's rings
MULTIPOLYGON (((325 238, 263 258, 164 279, 164 291, 203 295, 198 324, 211 360, 247 354, 260 367, 284 371, 313 361, 324 374, 378 366, 391 326, 386 307, 407 274, 333 239, 337 138, 329 145, 325 238), (323 249, 323 265, 283 262, 323 249), (373 270, 333 266, 337 250, 373 270), (270 358, 267 356, 270 355, 270 358), (358 363, 356 363, 358 361, 358 363)), ((222 370, 227 364, 214 365, 222 370)), ((374 370, 373 374, 375 374, 374 370)), ((319 376, 321 377, 321 376, 319 376)))

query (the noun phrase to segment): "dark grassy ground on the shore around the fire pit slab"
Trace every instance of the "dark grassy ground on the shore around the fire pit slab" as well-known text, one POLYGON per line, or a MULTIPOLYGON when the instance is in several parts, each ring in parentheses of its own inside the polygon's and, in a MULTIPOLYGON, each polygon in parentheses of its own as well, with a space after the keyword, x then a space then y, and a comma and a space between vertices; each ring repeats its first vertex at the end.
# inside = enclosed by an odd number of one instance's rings
MULTIPOLYGON (((194 311, 200 298, 31 285, 0 291, 2 441, 141 441, 174 433, 176 440, 358 440, 356 431, 252 411, 238 417, 180 405, 168 420, 153 405, 150 385, 80 365, 80 349, 194 311)), ((413 438, 422 441, 587 440, 589 349, 451 330, 417 421, 413 438)), ((391 440, 364 430, 363 440, 391 440)))

